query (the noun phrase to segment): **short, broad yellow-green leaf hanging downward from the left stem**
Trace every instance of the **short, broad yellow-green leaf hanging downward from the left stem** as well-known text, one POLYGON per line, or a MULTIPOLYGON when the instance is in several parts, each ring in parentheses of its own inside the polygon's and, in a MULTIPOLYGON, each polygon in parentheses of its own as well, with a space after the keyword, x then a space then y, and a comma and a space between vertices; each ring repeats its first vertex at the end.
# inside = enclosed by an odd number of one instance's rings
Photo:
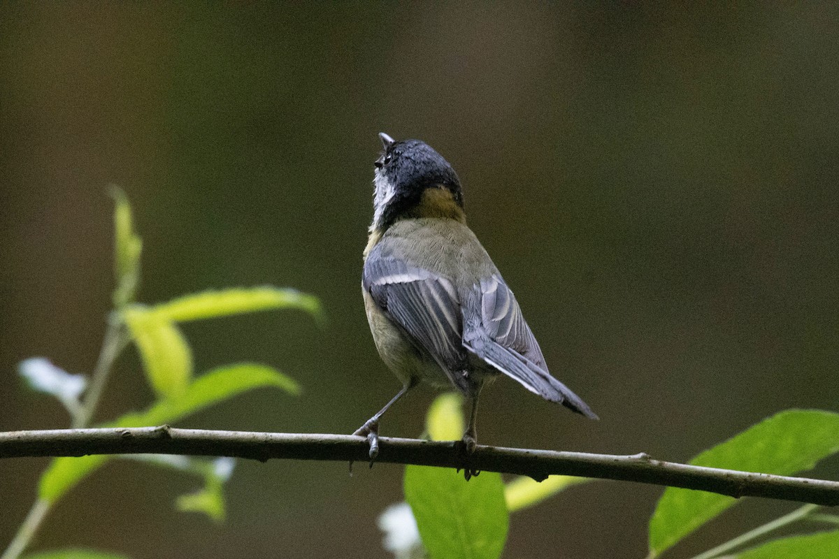
POLYGON ((158 396, 179 396, 192 376, 192 350, 180 329, 143 305, 126 308, 123 316, 140 351, 149 384, 158 396))

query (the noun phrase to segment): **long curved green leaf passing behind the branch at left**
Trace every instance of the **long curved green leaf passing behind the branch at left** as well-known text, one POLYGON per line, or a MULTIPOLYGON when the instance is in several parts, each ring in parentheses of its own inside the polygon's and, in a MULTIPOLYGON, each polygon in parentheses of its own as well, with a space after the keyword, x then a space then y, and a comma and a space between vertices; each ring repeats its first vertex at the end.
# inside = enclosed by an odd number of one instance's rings
MULTIPOLYGON (((294 380, 265 365, 228 365, 195 379, 180 396, 159 401, 147 411, 129 413, 102 427, 145 427, 175 422, 195 411, 232 398, 244 391, 272 386, 291 394, 300 388, 294 380)), ((39 497, 55 502, 112 456, 55 458, 41 476, 39 497)))

